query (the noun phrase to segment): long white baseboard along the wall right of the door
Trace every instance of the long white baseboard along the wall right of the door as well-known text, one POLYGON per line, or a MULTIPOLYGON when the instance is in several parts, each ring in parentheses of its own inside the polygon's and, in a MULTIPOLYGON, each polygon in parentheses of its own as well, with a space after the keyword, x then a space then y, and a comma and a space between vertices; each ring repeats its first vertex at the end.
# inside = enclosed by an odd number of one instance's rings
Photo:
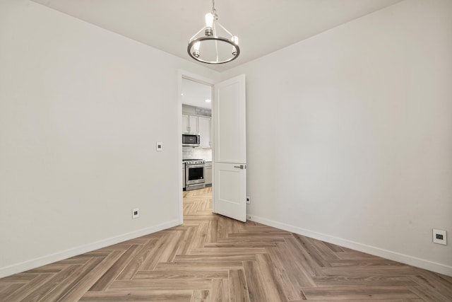
POLYGON ((292 226, 290 224, 273 221, 270 219, 265 219, 262 217, 249 215, 251 221, 266 224, 267 226, 273 226, 274 228, 280 228, 284 231, 289 231, 292 233, 297 233, 302 236, 307 236, 317 240, 322 240, 328 243, 333 243, 335 245, 340 245, 345 248, 351 248, 352 250, 358 250, 359 252, 366 252, 378 257, 383 257, 389 260, 404 263, 405 265, 412 265, 413 267, 420 267, 422 269, 427 269, 432 272, 437 272, 439 274, 446 274, 452 277, 452 267, 448 265, 443 265, 441 263, 432 262, 429 260, 420 259, 417 257, 412 257, 410 255, 400 254, 399 252, 393 252, 391 250, 384 250, 382 248, 376 248, 371 245, 365 245, 362 243, 357 243, 355 241, 346 240, 343 238, 338 238, 335 236, 326 235, 323 233, 317 233, 304 228, 299 228, 298 226, 292 226))

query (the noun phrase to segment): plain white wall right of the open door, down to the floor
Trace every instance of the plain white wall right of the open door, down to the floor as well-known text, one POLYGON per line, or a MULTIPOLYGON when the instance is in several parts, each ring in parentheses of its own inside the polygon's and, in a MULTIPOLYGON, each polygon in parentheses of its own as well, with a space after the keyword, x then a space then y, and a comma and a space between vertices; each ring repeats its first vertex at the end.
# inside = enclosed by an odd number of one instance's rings
POLYGON ((246 74, 253 220, 452 275, 451 11, 403 1, 222 73, 246 74))

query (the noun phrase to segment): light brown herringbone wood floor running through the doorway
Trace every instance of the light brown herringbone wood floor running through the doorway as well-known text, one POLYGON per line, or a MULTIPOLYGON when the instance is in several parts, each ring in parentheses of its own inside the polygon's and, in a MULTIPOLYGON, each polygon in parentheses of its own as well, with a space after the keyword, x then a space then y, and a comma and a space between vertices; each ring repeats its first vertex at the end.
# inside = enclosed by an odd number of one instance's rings
POLYGON ((0 279, 0 301, 452 301, 452 277, 211 212, 0 279))

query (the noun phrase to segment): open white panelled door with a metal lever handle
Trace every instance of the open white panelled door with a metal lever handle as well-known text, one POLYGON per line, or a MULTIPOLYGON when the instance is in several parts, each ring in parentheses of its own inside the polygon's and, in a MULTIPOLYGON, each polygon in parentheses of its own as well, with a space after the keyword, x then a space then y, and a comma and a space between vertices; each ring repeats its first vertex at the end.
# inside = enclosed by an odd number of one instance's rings
POLYGON ((245 75, 215 84, 213 212, 246 221, 245 75))

